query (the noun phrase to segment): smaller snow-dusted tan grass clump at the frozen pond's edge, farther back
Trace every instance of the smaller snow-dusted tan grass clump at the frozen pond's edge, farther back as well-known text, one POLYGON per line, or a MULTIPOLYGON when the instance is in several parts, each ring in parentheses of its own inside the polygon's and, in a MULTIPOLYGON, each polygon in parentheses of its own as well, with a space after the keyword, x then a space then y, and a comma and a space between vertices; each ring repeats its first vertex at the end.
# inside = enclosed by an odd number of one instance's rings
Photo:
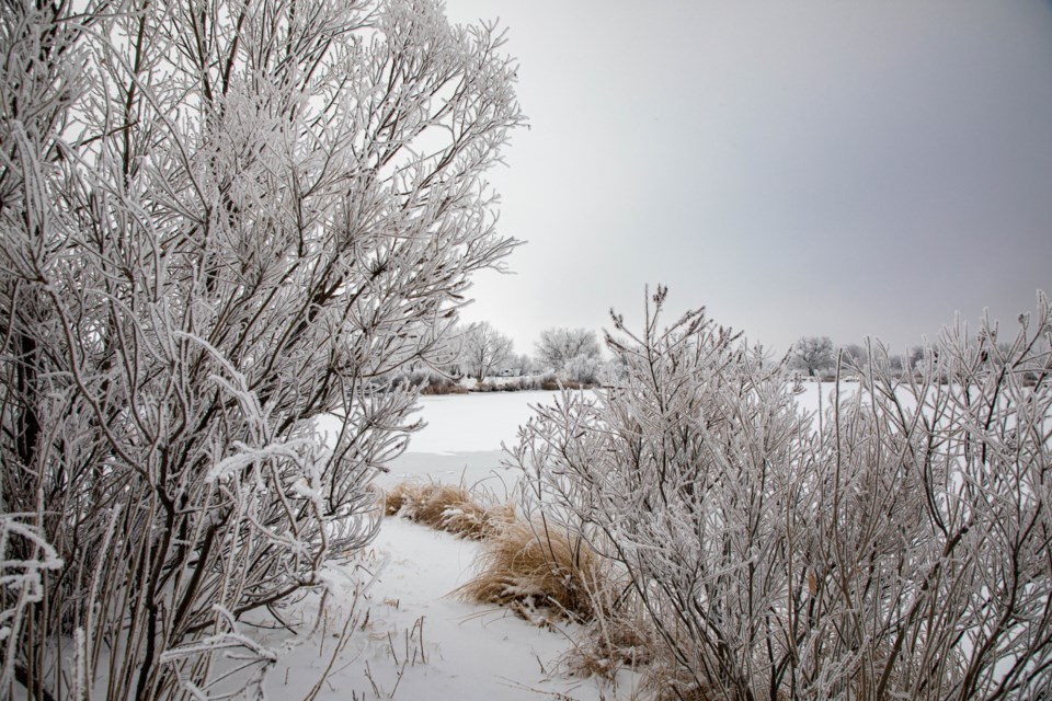
POLYGON ((468 540, 482 540, 515 518, 513 504, 487 504, 462 485, 400 482, 387 493, 386 514, 468 540))

